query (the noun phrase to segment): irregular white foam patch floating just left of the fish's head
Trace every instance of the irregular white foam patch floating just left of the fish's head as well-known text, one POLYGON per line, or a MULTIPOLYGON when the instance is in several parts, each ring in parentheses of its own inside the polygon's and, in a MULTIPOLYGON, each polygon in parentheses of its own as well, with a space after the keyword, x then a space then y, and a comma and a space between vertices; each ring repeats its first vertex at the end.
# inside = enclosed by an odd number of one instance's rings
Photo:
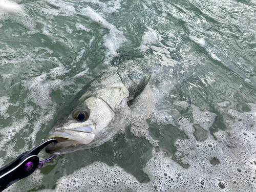
MULTIPOLYGON (((49 73, 44 72, 37 77, 22 81, 23 87, 29 90, 25 103, 35 103, 37 108, 33 109, 33 113, 39 116, 37 121, 34 121, 33 132, 30 134, 32 141, 36 138, 37 132, 41 130, 41 126, 43 124, 48 124, 55 114, 50 94, 53 90, 61 89, 61 87, 64 86, 63 81, 56 77, 69 72, 69 70, 66 70, 66 68, 56 58, 52 57, 49 58, 49 60, 51 60, 51 62, 55 62, 58 67, 51 69, 49 73), (50 79, 48 79, 49 77, 50 79)), ((31 111, 32 109, 30 105, 28 105, 28 109, 24 109, 24 112, 27 114, 31 111)))

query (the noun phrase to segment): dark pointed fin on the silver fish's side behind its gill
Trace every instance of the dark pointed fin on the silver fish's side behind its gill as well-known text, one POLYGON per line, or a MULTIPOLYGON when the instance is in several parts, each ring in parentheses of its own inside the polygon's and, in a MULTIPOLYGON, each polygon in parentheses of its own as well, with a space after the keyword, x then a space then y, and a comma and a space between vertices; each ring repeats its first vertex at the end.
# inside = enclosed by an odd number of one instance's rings
POLYGON ((133 86, 129 91, 130 91, 130 96, 131 96, 131 100, 129 100, 127 103, 130 106, 131 104, 133 104, 134 100, 142 93, 142 91, 145 89, 148 81, 150 81, 151 78, 151 74, 148 76, 145 76, 143 79, 141 79, 139 81, 138 84, 136 84, 136 86, 133 86))

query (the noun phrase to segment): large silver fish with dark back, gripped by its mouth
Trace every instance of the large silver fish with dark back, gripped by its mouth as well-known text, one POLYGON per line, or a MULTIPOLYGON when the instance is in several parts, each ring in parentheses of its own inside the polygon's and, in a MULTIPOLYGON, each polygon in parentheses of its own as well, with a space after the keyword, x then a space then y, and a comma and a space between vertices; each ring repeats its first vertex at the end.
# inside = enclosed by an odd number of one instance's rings
POLYGON ((151 74, 143 76, 138 65, 121 65, 130 59, 127 57, 127 54, 116 57, 113 69, 88 83, 60 112, 46 137, 58 142, 48 145, 47 153, 59 155, 86 150, 109 141, 118 133, 115 122, 120 121, 123 110, 136 102, 151 78, 151 74))

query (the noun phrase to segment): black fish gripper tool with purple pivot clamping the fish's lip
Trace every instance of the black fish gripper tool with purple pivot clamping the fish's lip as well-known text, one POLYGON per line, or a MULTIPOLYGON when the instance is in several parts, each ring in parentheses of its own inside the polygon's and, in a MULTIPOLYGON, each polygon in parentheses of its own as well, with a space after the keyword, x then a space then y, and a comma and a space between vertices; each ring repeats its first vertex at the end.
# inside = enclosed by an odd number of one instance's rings
POLYGON ((8 165, 0 168, 0 191, 6 189, 16 181, 28 177, 37 168, 49 162, 54 156, 40 161, 37 156, 39 152, 50 143, 57 142, 56 139, 48 139, 32 150, 19 155, 8 165))

